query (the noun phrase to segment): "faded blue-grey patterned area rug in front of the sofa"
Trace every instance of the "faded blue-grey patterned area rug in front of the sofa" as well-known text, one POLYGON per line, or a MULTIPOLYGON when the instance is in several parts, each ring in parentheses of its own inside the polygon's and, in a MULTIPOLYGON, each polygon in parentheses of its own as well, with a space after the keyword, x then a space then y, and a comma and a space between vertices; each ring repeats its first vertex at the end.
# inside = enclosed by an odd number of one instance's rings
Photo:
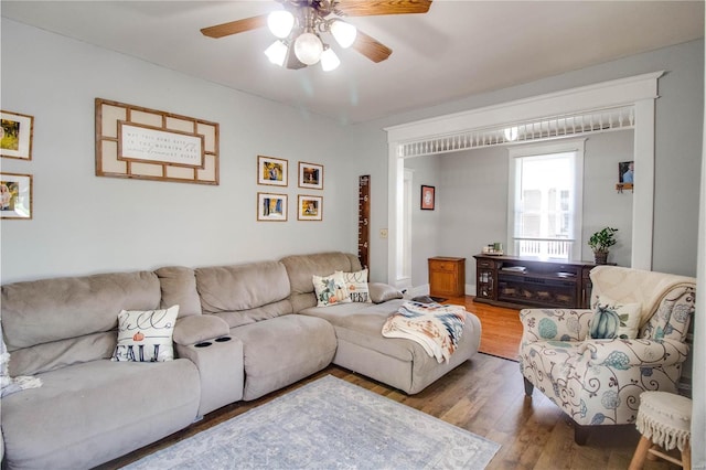
POLYGON ((500 445, 331 375, 126 469, 483 469, 500 445))

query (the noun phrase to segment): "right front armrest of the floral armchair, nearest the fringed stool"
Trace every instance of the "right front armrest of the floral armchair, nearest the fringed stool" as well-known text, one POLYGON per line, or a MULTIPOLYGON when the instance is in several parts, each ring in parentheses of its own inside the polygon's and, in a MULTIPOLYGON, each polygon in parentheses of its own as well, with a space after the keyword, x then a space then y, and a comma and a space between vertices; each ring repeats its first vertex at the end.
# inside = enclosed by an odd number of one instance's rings
POLYGON ((680 364, 686 360, 688 346, 674 340, 588 340, 581 345, 580 353, 589 364, 627 370, 680 364))

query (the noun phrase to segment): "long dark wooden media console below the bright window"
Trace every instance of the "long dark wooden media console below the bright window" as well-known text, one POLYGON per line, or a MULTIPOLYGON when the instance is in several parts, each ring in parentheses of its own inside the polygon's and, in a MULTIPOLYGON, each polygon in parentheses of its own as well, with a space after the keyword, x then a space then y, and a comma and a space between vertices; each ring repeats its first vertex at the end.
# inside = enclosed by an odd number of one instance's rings
POLYGON ((475 255, 475 301, 505 307, 589 308, 592 263, 475 255))

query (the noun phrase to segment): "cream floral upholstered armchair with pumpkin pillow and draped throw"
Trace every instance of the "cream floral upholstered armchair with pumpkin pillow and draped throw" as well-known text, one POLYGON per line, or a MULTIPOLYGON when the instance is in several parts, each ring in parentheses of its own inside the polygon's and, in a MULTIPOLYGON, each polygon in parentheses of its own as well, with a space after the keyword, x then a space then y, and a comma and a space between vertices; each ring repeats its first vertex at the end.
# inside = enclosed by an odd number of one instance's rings
POLYGON ((520 312, 525 393, 561 408, 580 445, 590 426, 634 423, 642 392, 676 393, 696 295, 684 276, 598 266, 590 278, 590 310, 520 312))

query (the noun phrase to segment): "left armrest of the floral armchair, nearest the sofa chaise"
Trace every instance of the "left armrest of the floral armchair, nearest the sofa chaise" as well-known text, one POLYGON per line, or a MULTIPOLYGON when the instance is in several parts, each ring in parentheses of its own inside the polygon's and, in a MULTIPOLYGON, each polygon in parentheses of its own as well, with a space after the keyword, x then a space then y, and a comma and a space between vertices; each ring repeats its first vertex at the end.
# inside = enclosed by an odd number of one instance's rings
POLYGON ((520 311, 522 342, 584 341, 592 317, 590 309, 523 309, 520 311))

